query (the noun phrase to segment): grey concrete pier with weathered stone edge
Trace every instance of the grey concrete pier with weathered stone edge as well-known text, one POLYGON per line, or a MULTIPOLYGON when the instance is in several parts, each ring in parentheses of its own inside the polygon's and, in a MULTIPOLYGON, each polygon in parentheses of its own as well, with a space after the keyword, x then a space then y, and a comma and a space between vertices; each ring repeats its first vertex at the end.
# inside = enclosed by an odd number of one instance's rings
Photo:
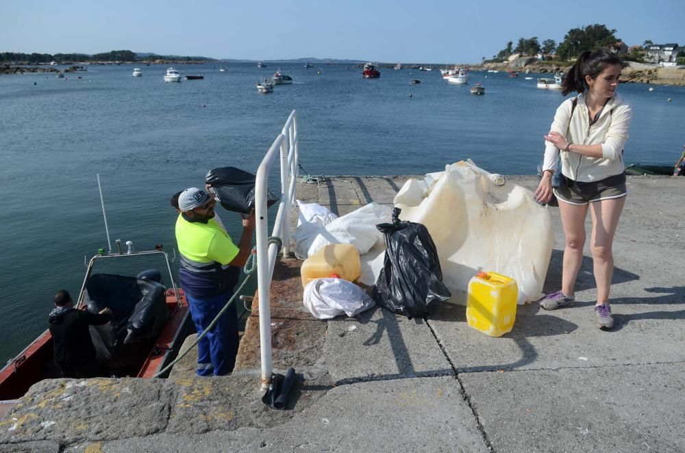
MULTIPOLYGON (((408 178, 327 178, 299 183, 297 196, 343 215, 391 205, 408 178)), ((469 328, 465 307, 450 304, 427 320, 379 308, 316 320, 302 307, 301 261, 284 259, 271 325, 274 367, 298 374, 285 411, 261 402, 255 302, 232 376, 198 378, 189 357, 167 380, 45 380, 0 421, 0 451, 682 452, 685 178, 628 177, 627 187, 612 331, 593 322, 589 245, 575 307, 519 306, 500 338, 469 328)), ((551 292, 563 235, 558 209, 547 209, 551 292)))

